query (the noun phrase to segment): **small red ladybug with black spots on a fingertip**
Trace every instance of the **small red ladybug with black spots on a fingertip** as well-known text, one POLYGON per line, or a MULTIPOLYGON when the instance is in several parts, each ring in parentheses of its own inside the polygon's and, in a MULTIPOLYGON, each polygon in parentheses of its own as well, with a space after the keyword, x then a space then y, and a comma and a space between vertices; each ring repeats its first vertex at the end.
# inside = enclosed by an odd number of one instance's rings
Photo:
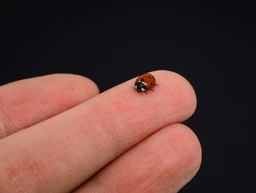
MULTIPOLYGON (((153 75, 145 73, 143 75, 140 75, 136 81, 135 81, 135 88, 137 92, 144 92, 148 94, 146 91, 147 90, 152 90, 154 86, 159 86, 156 84, 156 79, 154 78, 153 75)), ((154 90, 152 90, 154 92, 154 90)), ((142 94, 142 93, 141 93, 142 94)))

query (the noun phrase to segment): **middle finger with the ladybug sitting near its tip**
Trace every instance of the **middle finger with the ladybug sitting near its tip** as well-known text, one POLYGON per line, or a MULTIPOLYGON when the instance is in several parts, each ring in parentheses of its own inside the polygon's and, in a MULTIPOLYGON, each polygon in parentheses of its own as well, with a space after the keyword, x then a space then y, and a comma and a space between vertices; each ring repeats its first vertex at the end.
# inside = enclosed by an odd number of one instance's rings
POLYGON ((134 78, 0 140, 2 192, 69 192, 160 128, 189 118, 196 108, 189 82, 174 72, 151 74, 159 87, 148 95, 133 91, 134 78))

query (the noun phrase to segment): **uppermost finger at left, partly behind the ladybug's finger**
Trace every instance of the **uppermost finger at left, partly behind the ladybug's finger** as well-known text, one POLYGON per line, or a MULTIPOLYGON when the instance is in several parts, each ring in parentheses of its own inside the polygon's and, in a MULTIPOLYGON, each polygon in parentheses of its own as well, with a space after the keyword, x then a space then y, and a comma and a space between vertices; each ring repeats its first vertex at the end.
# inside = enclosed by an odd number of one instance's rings
POLYGON ((0 139, 35 125, 99 94, 79 75, 54 74, 0 86, 0 139))

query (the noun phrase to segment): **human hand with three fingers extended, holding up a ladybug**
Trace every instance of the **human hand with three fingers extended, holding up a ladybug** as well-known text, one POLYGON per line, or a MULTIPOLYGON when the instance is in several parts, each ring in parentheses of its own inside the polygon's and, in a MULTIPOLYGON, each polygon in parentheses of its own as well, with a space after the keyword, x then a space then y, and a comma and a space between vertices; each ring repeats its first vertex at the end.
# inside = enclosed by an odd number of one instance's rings
POLYGON ((0 86, 0 193, 170 193, 197 173, 201 146, 180 122, 195 111, 192 86, 150 72, 101 94, 78 75, 0 86))

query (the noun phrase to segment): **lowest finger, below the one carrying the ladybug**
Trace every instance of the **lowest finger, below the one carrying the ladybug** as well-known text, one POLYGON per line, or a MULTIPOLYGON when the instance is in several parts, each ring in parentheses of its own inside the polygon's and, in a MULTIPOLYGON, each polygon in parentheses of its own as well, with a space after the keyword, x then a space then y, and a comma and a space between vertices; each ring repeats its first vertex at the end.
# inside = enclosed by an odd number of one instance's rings
POLYGON ((197 173, 201 146, 183 124, 157 131, 73 193, 176 193, 197 173))

